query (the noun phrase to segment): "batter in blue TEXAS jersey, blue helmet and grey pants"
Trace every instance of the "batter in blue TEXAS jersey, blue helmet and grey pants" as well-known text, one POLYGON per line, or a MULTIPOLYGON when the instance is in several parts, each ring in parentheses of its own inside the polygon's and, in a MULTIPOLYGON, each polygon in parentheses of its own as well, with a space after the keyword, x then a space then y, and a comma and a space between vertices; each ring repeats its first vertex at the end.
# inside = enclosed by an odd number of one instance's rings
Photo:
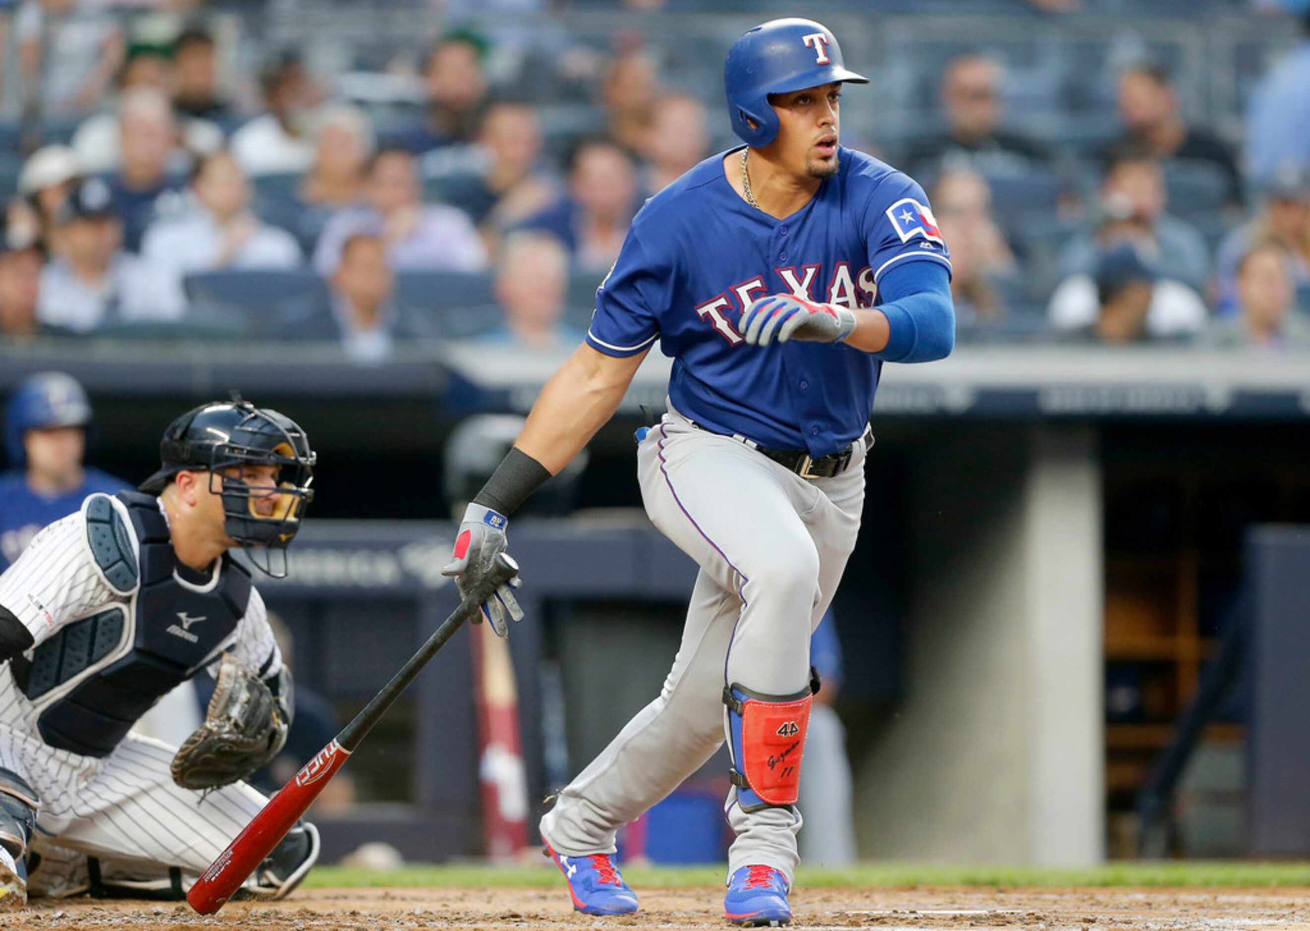
MULTIPOLYGON (((586 343, 550 378, 464 515, 445 572, 482 577, 507 516, 614 412, 650 348, 673 357, 668 411, 639 432, 651 521, 700 563, 660 695, 541 818, 574 905, 637 909, 617 829, 727 737, 727 918, 785 924, 812 694, 810 634, 855 543, 869 418, 886 361, 954 344, 950 261, 922 189, 838 143, 846 69, 817 22, 774 20, 724 67, 745 143, 651 198, 596 292, 586 343)), ((499 631, 521 612, 483 604, 499 631)))

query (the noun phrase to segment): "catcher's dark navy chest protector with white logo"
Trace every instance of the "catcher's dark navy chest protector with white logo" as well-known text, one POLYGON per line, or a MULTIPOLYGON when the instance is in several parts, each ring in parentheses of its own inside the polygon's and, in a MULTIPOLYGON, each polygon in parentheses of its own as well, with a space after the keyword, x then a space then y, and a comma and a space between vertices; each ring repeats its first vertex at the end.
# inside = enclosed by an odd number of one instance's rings
POLYGON ((13 666, 18 687, 38 707, 42 695, 81 677, 41 711, 37 727, 50 746, 85 757, 107 756, 160 698, 191 678, 231 638, 250 602, 250 574, 227 555, 212 588, 181 584, 156 499, 134 491, 118 499, 140 541, 135 597, 126 610, 110 608, 60 629, 30 663, 13 666), (124 638, 128 652, 97 668, 124 638))

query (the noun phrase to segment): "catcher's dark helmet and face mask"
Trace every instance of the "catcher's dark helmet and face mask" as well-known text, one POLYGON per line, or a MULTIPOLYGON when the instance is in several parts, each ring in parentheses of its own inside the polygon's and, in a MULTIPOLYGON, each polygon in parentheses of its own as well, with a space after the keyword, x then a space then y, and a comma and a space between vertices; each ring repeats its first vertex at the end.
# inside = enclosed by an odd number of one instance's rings
POLYGON ((317 454, 305 431, 288 416, 249 401, 216 401, 187 411, 164 431, 161 467, 139 486, 157 495, 177 473, 210 473, 210 491, 223 498, 223 529, 266 575, 287 575, 287 546, 300 529, 313 500, 317 454), (276 488, 252 486, 241 466, 269 465, 276 488), (272 512, 261 515, 257 502, 276 495, 272 512))

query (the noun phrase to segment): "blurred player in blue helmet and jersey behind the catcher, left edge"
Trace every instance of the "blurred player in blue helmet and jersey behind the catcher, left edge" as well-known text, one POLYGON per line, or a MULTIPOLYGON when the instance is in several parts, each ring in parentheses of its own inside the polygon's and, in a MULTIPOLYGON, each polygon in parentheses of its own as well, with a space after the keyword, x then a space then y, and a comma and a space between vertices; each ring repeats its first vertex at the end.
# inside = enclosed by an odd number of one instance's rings
POLYGON ((0 475, 0 572, 37 530, 76 511, 96 491, 127 482, 83 466, 90 402, 72 376, 42 372, 24 381, 5 411, 9 471, 0 475))

